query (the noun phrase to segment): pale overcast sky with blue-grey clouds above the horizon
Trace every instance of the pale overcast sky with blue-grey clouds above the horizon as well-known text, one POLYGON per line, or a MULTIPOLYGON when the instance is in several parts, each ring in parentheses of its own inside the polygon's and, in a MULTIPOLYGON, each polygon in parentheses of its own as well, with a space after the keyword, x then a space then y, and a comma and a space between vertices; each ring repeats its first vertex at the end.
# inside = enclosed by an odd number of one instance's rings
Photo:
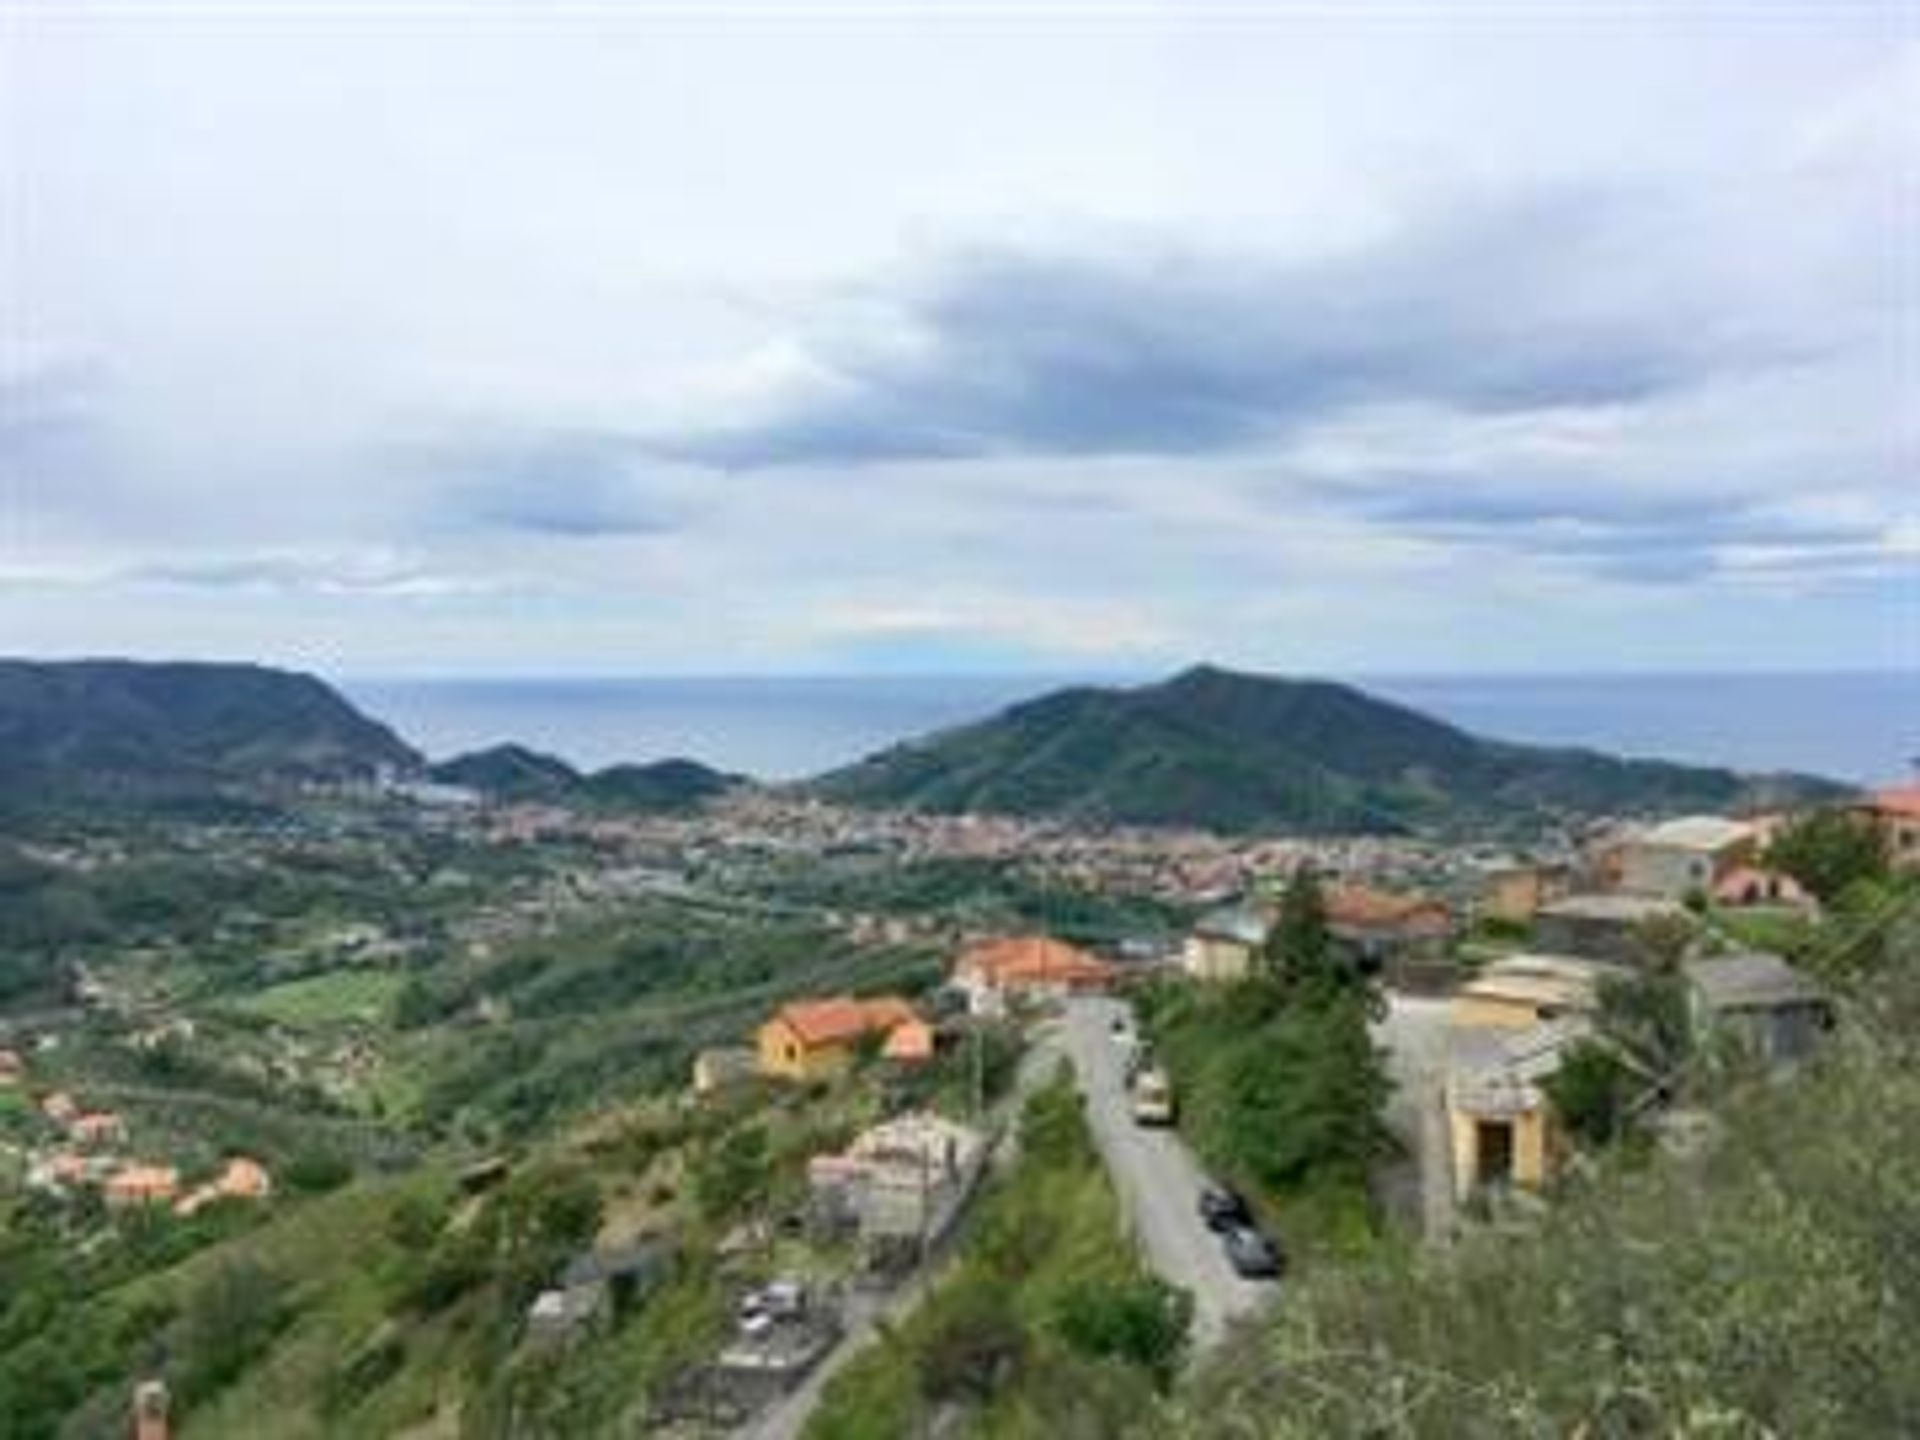
POLYGON ((0 653, 1912 670, 1916 13, 0 0, 0 653))

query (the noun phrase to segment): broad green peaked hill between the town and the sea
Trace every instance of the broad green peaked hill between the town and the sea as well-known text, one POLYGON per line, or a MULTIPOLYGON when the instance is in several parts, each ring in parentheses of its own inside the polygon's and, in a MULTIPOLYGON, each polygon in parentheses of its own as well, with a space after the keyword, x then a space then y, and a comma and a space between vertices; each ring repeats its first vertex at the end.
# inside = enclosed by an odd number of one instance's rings
POLYGON ((1839 793, 1807 776, 1482 739, 1350 685, 1215 666, 1054 691, 814 787, 852 804, 1225 831, 1409 831, 1839 793))

